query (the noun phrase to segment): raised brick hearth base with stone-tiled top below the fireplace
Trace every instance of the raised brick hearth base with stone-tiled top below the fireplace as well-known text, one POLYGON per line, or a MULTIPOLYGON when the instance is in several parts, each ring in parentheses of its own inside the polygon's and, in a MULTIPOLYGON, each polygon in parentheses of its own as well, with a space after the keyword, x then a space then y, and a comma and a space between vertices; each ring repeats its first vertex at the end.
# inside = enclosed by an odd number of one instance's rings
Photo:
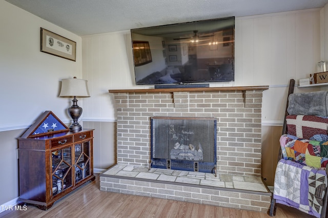
POLYGON ((117 164, 100 175, 100 190, 268 212, 271 192, 260 177, 117 164))

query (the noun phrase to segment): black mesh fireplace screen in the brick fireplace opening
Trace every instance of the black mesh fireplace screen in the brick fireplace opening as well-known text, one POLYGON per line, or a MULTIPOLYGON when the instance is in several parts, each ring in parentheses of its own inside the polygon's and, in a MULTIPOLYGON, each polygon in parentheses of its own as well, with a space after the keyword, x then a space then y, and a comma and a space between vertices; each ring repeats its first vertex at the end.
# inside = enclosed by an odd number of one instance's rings
POLYGON ((216 118, 152 117, 151 167, 215 173, 216 118))

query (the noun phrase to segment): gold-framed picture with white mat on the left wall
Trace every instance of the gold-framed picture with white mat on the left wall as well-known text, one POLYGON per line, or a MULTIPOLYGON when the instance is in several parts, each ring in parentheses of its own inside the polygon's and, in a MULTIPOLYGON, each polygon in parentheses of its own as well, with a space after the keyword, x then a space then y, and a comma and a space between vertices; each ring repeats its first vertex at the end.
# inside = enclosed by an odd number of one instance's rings
POLYGON ((76 61, 76 42, 40 28, 40 51, 76 61))

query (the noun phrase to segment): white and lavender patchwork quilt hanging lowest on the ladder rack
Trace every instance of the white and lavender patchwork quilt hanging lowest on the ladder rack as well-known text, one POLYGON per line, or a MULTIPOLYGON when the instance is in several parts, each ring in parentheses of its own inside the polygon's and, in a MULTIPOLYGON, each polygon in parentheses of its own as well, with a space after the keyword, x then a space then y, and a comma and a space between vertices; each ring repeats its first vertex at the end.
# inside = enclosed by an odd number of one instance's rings
POLYGON ((326 186, 324 170, 281 159, 276 168, 273 198, 276 203, 320 217, 326 186))

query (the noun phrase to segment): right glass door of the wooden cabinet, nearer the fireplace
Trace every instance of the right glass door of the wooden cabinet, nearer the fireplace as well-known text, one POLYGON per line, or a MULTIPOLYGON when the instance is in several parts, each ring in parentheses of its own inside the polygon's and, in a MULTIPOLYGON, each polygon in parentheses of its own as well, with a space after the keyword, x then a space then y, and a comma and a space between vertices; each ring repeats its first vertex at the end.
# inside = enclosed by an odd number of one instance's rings
POLYGON ((90 141, 75 144, 75 182, 90 176, 90 141))

